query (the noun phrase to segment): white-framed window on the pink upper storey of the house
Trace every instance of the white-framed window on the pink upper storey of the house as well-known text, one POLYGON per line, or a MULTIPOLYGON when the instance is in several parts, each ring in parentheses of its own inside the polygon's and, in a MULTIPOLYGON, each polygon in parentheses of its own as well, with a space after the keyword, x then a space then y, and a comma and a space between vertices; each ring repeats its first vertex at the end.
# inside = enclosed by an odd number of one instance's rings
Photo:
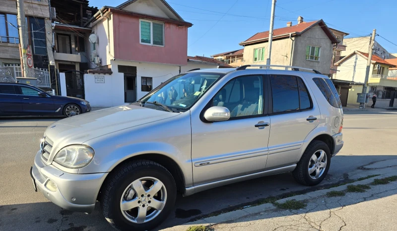
POLYGON ((164 23, 139 20, 140 43, 164 46, 164 23))

